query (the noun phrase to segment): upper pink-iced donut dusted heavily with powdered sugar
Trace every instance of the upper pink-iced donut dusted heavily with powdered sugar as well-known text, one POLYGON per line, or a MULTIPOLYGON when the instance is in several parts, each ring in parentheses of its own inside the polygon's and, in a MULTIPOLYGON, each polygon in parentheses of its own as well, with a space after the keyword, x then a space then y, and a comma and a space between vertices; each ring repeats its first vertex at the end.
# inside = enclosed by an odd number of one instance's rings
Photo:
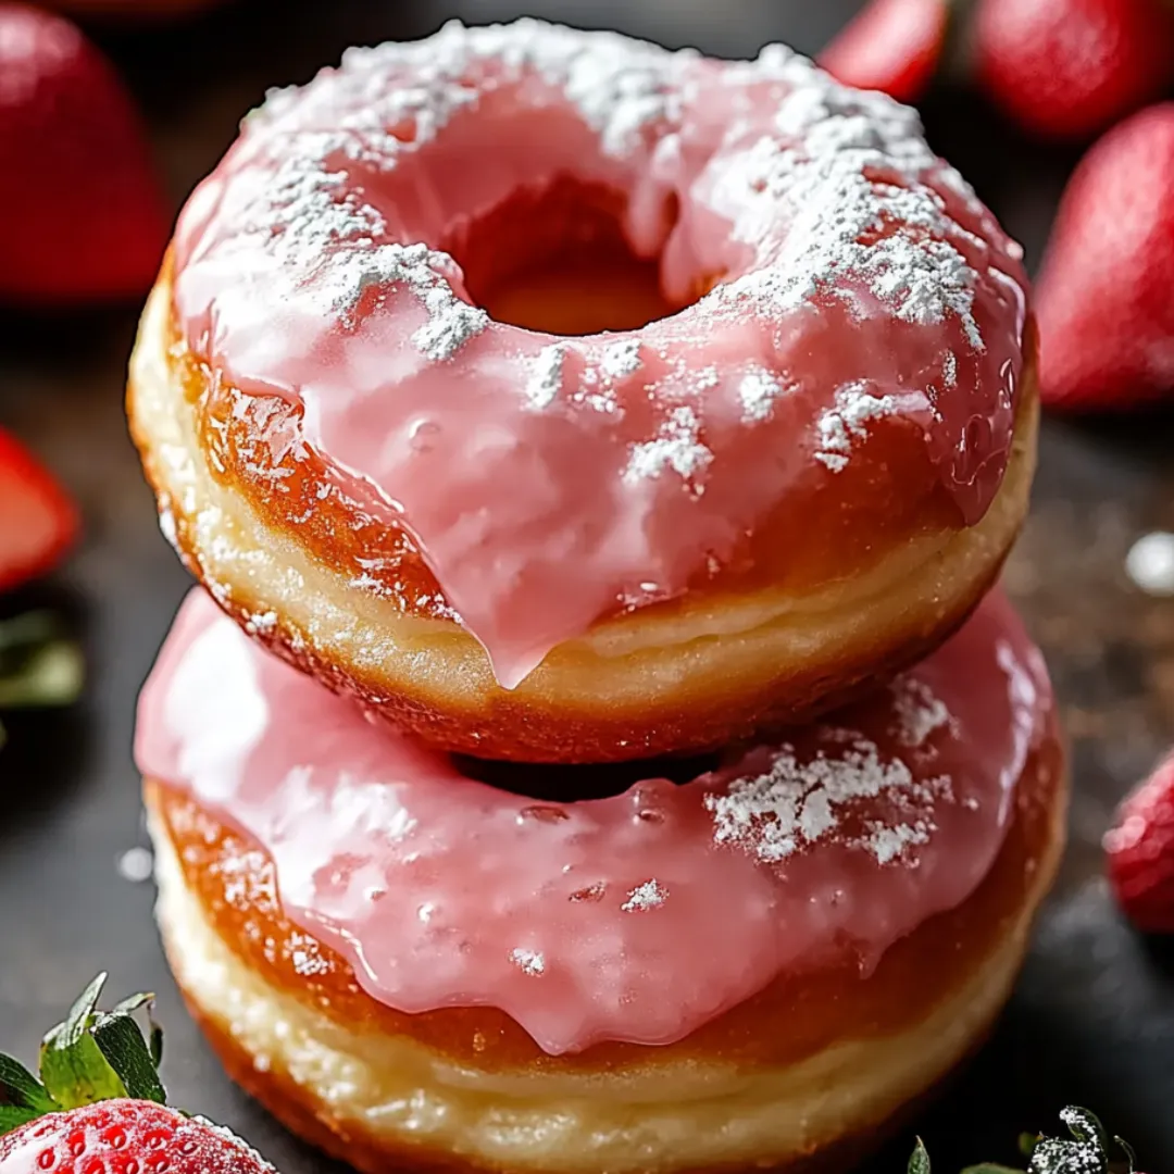
POLYGON ((532 20, 352 49, 194 193, 129 412, 250 633, 440 749, 720 748, 996 580, 1020 250, 917 115, 771 46, 532 20))

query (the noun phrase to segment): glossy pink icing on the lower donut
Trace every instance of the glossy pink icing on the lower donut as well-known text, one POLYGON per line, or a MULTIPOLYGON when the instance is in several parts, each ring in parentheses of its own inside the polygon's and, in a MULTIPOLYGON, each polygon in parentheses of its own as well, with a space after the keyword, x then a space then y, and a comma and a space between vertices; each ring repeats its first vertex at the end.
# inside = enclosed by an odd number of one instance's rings
POLYGON ((1051 704, 996 595, 828 723, 683 785, 538 802, 364 717, 193 593, 136 756, 257 839, 286 915, 376 999, 497 1006, 559 1054, 673 1043, 845 951, 866 973, 986 875, 1051 704))

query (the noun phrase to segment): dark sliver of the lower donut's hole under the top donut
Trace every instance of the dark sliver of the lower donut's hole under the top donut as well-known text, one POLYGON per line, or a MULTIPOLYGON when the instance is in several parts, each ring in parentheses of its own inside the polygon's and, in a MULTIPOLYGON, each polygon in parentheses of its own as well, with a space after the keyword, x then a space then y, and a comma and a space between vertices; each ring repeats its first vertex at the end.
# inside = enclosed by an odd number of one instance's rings
POLYGON ((547 803, 575 803, 622 795, 636 783, 667 778, 677 785, 716 770, 717 754, 690 757, 645 758, 639 762, 562 765, 556 763, 495 762, 454 755, 458 769, 470 778, 500 791, 547 803))

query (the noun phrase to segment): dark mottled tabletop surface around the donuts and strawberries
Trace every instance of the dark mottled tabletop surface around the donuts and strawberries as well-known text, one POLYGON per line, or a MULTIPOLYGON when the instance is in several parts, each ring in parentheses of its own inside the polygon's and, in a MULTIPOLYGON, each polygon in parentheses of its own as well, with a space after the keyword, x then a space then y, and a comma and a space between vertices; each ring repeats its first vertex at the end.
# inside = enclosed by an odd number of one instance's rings
MULTIPOLYGON (((519 8, 720 54, 764 40, 816 50, 851 0, 295 0, 242 4, 103 43, 146 107, 178 202, 271 83, 306 79, 349 42, 416 36, 441 19, 519 8)), ((971 97, 926 108, 931 137, 1038 261, 1074 155, 1019 140, 971 97)), ((134 699, 188 586, 158 537, 126 437, 121 393, 135 322, 122 311, 0 315, 0 424, 59 470, 86 542, 55 581, 4 610, 50 601, 74 618, 90 683, 74 710, 12 722, 0 755, 0 1040, 32 1058, 40 1034, 97 970, 112 993, 148 985, 170 1027, 173 1097, 238 1129, 285 1174, 330 1163, 291 1140, 222 1075, 178 1007, 150 917, 149 884, 116 862, 144 843, 130 760, 134 699)), ((1131 1138, 1149 1174, 1174 1170, 1174 950, 1118 920, 1099 841, 1126 788, 1174 737, 1174 601, 1131 587, 1132 541, 1174 528, 1170 417, 1048 423, 1034 512, 1008 583, 1047 652, 1073 740, 1072 844, 1014 1000, 962 1084, 924 1122, 935 1168, 1013 1158, 1020 1129, 1067 1101, 1131 1138)), ((4 504, 0 502, 0 511, 4 504)), ((870 1167, 903 1170, 908 1142, 870 1167)))

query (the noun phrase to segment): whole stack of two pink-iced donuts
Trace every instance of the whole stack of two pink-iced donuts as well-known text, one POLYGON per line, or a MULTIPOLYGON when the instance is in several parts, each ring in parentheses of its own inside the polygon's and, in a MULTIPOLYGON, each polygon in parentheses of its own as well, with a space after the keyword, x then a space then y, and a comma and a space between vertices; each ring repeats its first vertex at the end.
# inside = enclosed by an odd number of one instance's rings
POLYGON ((1034 351, 912 112, 778 46, 352 50, 193 195, 129 410, 207 588, 140 706, 164 943, 291 1128, 835 1169, 980 1040, 1062 839, 987 594, 1034 351))

